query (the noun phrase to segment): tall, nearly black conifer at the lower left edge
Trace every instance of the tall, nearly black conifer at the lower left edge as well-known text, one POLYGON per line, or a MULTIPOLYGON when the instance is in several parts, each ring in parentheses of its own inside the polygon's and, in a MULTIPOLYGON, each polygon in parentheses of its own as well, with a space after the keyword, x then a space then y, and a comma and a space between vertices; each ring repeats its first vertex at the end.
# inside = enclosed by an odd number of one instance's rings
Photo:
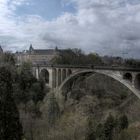
POLYGON ((0 67, 0 140, 21 140, 22 126, 12 97, 11 73, 0 67))

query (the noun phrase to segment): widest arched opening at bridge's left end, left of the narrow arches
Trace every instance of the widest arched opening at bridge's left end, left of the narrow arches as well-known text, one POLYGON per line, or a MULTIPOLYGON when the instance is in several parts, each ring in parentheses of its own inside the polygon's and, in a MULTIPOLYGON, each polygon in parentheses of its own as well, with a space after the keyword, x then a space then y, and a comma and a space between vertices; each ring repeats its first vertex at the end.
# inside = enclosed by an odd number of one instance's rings
POLYGON ((45 83, 49 84, 49 72, 47 69, 41 70, 40 79, 43 79, 45 81, 45 83))

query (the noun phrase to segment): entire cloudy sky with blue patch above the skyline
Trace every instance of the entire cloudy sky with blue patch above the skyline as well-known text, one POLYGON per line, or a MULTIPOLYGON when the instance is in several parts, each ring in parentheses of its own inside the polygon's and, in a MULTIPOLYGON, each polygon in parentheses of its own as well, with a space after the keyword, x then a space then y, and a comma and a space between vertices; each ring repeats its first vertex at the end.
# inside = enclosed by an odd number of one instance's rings
POLYGON ((0 0, 0 44, 30 43, 140 58, 140 0, 0 0))

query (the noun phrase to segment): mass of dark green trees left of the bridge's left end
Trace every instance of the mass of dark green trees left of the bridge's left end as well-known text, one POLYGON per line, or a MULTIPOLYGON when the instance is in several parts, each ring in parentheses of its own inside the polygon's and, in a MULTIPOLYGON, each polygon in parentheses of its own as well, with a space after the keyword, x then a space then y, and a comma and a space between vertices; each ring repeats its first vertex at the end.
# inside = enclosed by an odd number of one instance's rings
POLYGON ((44 81, 33 76, 30 63, 17 67, 10 53, 1 55, 0 62, 0 139, 22 140, 21 112, 40 116, 38 103, 48 91, 44 81))

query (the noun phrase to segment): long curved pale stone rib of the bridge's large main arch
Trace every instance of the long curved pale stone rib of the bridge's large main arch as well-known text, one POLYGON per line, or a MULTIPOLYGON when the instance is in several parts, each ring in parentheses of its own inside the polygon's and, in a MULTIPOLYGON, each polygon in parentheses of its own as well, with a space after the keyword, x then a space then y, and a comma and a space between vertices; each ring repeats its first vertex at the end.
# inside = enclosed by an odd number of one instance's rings
MULTIPOLYGON (((134 93, 140 99, 140 90, 135 88, 134 85, 132 85, 132 83, 130 83, 130 81, 125 80, 123 75, 121 75, 120 73, 115 73, 114 71, 110 72, 108 70, 103 70, 103 71, 102 70, 82 70, 82 71, 74 72, 61 83, 61 85, 58 87, 58 91, 59 91, 58 93, 61 94, 65 85, 68 82, 74 80, 76 77, 83 75, 83 74, 94 74, 94 73, 106 75, 108 77, 113 78, 114 80, 120 82, 125 87, 127 87, 130 91, 132 91, 132 93, 134 93)), ((140 74, 138 76, 138 79, 140 79, 140 74)), ((138 83, 138 84, 140 84, 140 83, 138 83)), ((61 95, 59 95, 59 96, 61 96, 61 95)))

